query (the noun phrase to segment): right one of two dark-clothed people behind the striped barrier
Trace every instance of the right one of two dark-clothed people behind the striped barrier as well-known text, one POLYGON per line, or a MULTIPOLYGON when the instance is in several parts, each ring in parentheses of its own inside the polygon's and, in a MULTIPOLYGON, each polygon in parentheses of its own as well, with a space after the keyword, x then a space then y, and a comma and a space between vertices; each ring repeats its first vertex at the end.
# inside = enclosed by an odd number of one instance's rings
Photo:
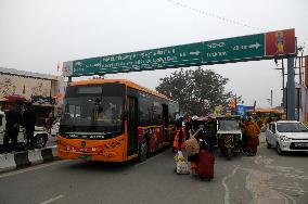
POLYGON ((34 141, 34 133, 35 133, 35 125, 36 125, 36 113, 33 109, 31 103, 26 104, 26 110, 23 114, 24 126, 26 129, 26 137, 27 137, 27 148, 28 150, 34 150, 35 141, 34 141))

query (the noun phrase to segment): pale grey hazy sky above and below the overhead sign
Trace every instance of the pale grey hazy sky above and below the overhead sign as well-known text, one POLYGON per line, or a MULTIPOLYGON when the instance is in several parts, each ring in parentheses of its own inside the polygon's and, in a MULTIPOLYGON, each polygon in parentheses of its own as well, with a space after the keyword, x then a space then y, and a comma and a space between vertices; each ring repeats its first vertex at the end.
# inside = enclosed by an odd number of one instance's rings
MULTIPOLYGON (((295 28, 308 50, 307 0, 0 0, 0 67, 60 74, 59 62, 295 28)), ((246 105, 282 99, 273 61, 203 66, 246 105)), ((190 67, 194 68, 194 67, 190 67)), ((107 75, 154 89, 176 69, 107 75)))

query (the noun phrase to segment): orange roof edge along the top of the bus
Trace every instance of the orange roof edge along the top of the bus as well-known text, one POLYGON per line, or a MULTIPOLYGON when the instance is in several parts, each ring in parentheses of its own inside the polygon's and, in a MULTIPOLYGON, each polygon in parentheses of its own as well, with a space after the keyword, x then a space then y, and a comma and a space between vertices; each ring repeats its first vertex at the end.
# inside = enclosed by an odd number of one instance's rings
POLYGON ((153 91, 151 89, 147 89, 145 87, 137 85, 137 84, 134 84, 134 82, 132 82, 130 80, 127 80, 127 79, 102 79, 102 78, 99 78, 99 79, 87 79, 87 80, 79 80, 79 81, 69 82, 69 86, 75 87, 75 86, 79 86, 79 85, 102 85, 102 84, 105 84, 105 82, 124 84, 124 85, 126 85, 126 86, 128 86, 130 88, 134 88, 134 89, 138 89, 140 91, 144 91, 146 93, 150 93, 150 94, 153 94, 153 95, 156 95, 156 97, 159 97, 159 98, 164 98, 164 99, 169 100, 169 101, 174 101, 174 100, 167 98, 163 93, 159 93, 157 91, 153 91))

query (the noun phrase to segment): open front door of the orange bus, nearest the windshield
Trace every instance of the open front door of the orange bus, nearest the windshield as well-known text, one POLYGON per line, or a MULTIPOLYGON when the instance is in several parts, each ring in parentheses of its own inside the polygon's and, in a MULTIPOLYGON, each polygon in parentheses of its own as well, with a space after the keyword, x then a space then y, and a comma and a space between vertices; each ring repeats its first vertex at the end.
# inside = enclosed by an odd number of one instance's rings
POLYGON ((138 138, 138 101, 137 98, 128 97, 128 146, 127 156, 137 154, 137 138, 138 138))

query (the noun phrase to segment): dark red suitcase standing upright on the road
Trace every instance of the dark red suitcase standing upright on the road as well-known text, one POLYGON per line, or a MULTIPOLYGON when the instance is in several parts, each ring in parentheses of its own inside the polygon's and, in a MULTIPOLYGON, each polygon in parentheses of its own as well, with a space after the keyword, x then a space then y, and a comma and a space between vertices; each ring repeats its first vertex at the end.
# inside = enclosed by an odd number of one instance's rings
POLYGON ((211 180, 214 178, 214 154, 202 150, 198 154, 195 173, 200 178, 211 180))

